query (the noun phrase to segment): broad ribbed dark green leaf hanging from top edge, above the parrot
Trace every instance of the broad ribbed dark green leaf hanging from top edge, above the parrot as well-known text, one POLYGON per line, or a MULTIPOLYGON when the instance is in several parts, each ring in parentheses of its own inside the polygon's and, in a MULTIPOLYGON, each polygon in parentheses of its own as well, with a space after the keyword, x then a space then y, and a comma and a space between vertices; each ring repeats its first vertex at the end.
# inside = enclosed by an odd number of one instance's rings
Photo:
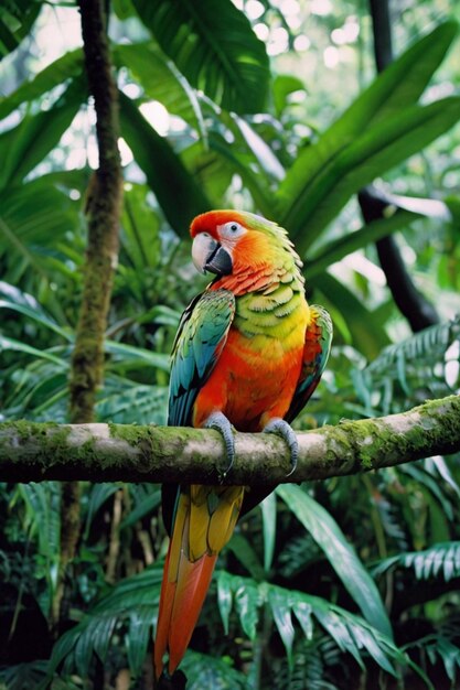
POLYGON ((132 0, 146 26, 190 84, 238 114, 258 112, 267 98, 265 45, 231 0, 132 0))

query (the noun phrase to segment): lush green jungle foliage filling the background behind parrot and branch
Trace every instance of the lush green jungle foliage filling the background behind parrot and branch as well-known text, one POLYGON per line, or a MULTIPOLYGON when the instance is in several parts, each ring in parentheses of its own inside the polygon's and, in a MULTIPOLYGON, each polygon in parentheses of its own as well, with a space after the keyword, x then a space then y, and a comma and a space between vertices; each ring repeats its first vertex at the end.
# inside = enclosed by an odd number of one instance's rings
MULTIPOLYGON (((458 392, 457 3, 106 8, 124 204, 95 419, 165 422, 213 207, 287 227, 332 314, 298 429, 458 392)), ((98 164, 75 3, 2 2, 0 54, 0 421, 64 422, 98 164)), ((279 487, 220 558, 188 688, 459 688, 459 460, 279 487)), ((67 562, 62 485, 0 484, 1 688, 151 687, 160 487, 78 492, 67 562)))

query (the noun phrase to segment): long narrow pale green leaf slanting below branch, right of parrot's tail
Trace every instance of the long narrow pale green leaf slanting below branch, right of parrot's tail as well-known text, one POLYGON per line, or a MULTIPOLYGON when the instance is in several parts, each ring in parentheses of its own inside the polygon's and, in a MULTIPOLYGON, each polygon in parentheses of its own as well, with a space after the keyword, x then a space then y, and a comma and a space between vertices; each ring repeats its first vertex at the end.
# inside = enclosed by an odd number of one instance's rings
POLYGON ((392 626, 375 582, 330 514, 293 484, 278 486, 276 492, 322 548, 366 621, 392 637, 392 626))

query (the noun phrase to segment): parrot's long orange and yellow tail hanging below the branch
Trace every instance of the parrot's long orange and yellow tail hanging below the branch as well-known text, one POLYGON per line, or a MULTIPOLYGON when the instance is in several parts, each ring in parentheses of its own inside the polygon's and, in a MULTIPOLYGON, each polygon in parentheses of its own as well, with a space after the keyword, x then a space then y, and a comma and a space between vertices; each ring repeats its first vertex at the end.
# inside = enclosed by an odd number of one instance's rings
POLYGON ((239 486, 192 485, 181 490, 161 585, 153 653, 157 679, 163 669, 172 676, 185 654, 243 496, 239 486))

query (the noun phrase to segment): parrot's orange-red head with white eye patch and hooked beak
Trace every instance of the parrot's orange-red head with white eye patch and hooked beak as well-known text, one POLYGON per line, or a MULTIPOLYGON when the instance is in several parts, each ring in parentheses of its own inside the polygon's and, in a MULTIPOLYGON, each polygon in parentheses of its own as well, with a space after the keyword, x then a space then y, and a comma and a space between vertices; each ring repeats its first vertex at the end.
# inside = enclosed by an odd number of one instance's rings
POLYGON ((192 259, 200 272, 242 276, 301 263, 287 233, 276 223, 243 211, 210 211, 192 222, 192 259))

